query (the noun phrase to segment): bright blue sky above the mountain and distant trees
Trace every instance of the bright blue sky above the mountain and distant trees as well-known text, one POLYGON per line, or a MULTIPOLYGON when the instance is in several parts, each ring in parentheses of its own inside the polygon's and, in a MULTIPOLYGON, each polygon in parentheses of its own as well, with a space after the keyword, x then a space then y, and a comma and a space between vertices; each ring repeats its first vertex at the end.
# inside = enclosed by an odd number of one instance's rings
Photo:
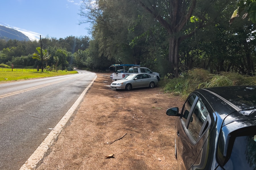
POLYGON ((2 0, 0 25, 21 31, 30 39, 49 36, 89 36, 89 24, 78 25, 80 0, 2 0))

